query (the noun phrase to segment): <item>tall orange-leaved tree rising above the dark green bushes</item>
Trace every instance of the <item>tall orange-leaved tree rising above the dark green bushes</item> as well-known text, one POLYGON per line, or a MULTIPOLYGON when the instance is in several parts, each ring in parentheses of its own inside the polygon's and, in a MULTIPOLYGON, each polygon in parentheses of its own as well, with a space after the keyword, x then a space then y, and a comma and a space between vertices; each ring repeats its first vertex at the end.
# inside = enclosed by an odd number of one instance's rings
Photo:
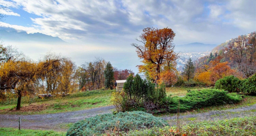
MULTIPOLYGON (((141 45, 131 44, 136 47, 137 55, 142 59, 143 65, 139 65, 140 72, 147 72, 149 77, 156 82, 159 80, 163 67, 174 66, 178 58, 174 52, 173 38, 175 33, 170 28, 145 28, 138 40, 141 45)), ((172 67, 171 69, 176 69, 172 67)))

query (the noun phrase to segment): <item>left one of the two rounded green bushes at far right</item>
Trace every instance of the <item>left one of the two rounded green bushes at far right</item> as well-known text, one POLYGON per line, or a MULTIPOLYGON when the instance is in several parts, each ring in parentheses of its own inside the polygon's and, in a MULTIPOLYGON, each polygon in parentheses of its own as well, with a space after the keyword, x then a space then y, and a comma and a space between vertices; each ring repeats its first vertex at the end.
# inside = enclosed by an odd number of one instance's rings
POLYGON ((224 89, 229 92, 240 92, 239 86, 241 81, 233 75, 219 79, 215 83, 216 89, 224 89))

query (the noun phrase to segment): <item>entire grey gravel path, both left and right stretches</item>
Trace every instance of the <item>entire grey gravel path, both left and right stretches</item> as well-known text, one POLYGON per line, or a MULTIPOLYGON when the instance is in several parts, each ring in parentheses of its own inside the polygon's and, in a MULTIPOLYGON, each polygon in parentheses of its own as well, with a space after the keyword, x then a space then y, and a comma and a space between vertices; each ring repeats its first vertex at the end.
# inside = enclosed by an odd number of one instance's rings
MULTIPOLYGON (((18 118, 22 119, 22 129, 42 129, 67 131, 68 127, 65 124, 74 123, 88 117, 96 116, 98 114, 112 113, 115 107, 106 106, 92 109, 85 109, 81 111, 43 114, 43 115, 0 115, 0 127, 18 128, 18 118)), ((188 123, 193 121, 203 120, 217 120, 234 117, 255 116, 256 112, 251 111, 256 109, 256 104, 251 106, 239 107, 235 109, 227 109, 222 111, 209 111, 198 114, 188 114, 180 116, 180 122, 188 123)), ((164 116, 170 125, 176 124, 176 116, 164 116)))

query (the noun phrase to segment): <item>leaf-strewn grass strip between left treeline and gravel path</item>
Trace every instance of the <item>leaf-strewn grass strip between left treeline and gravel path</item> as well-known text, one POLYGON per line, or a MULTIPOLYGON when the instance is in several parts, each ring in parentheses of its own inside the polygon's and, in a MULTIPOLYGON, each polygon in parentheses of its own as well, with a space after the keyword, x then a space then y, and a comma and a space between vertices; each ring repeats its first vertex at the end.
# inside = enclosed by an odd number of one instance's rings
POLYGON ((78 92, 66 97, 39 99, 33 98, 27 102, 22 101, 22 109, 26 107, 27 110, 10 111, 16 107, 15 101, 0 104, 0 114, 19 114, 19 115, 33 115, 33 114, 49 114, 61 113, 69 111, 77 111, 88 108, 102 107, 111 105, 110 97, 113 90, 93 90, 86 92, 78 92), (43 106, 40 106, 43 105, 43 106), (35 108, 39 106, 40 109, 35 108))

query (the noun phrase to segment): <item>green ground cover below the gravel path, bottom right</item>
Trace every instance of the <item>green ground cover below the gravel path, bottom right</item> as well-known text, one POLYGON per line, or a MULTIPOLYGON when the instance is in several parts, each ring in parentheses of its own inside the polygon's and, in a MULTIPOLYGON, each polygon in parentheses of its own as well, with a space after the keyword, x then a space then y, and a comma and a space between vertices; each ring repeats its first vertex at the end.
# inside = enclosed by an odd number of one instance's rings
POLYGON ((115 136, 254 136, 256 135, 256 117, 233 118, 217 121, 202 121, 186 124, 176 132, 176 126, 143 129, 129 132, 111 132, 106 135, 115 136))

